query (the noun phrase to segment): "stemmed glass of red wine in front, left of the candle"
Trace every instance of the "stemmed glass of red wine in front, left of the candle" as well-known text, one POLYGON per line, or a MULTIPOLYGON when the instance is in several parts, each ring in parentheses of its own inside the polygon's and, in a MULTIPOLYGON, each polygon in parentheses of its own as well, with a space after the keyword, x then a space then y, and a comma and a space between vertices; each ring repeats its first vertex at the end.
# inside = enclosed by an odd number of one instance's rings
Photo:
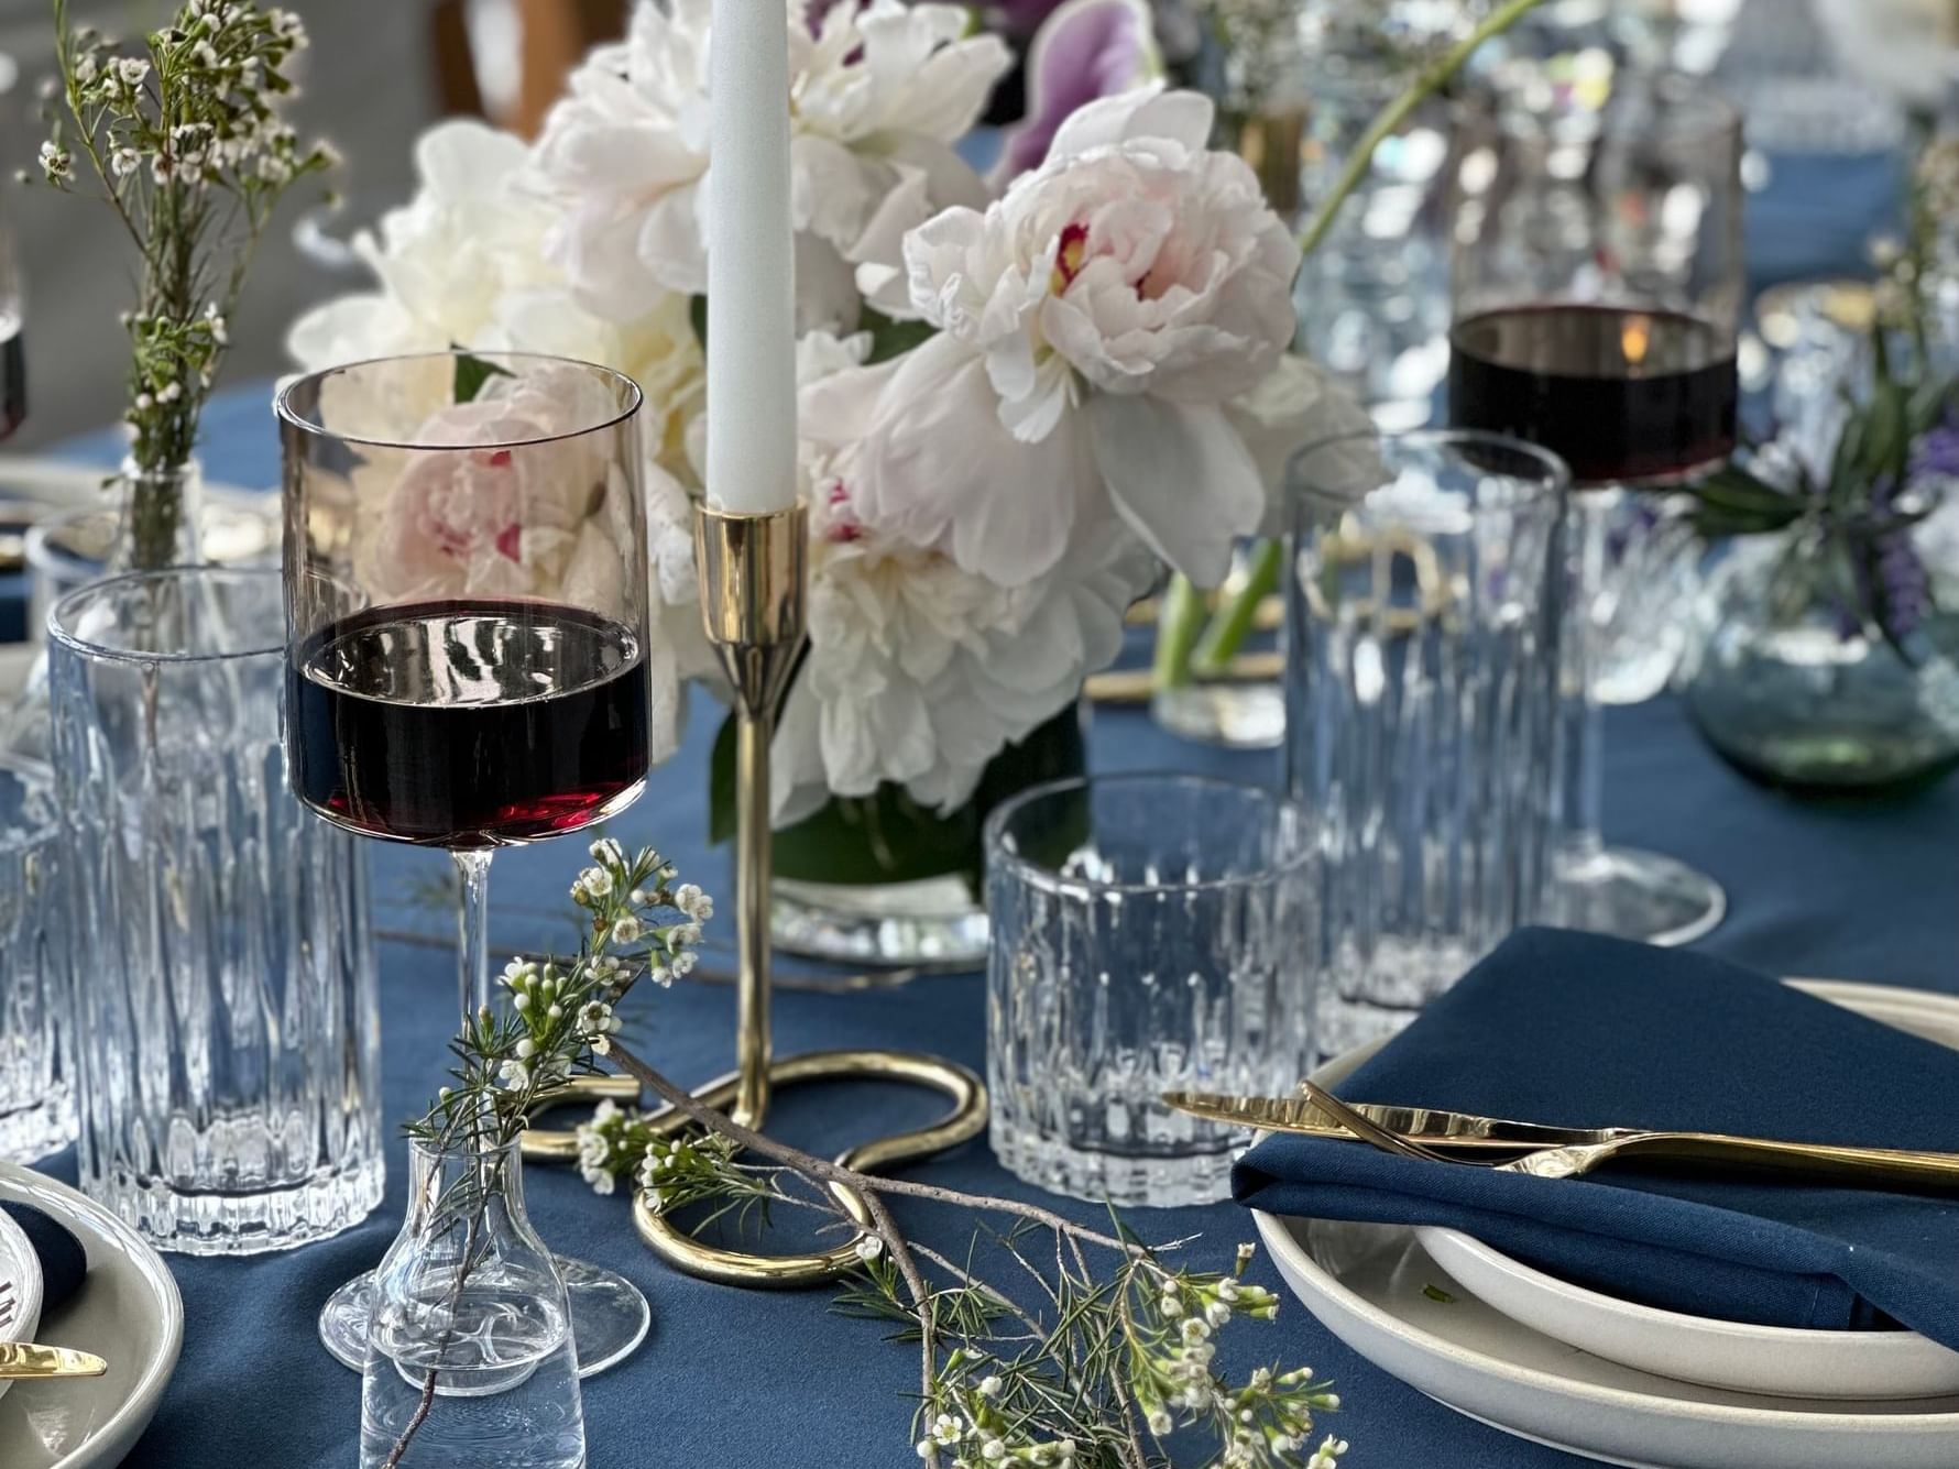
MULTIPOLYGON (((648 762, 639 386, 529 355, 357 362, 278 396, 286 764, 325 821, 445 848, 462 1015, 490 1003, 490 856, 631 805, 648 762)), ((646 1336, 646 1297, 558 1261, 580 1375, 646 1336)), ((372 1275, 319 1336, 366 1361, 372 1275)))

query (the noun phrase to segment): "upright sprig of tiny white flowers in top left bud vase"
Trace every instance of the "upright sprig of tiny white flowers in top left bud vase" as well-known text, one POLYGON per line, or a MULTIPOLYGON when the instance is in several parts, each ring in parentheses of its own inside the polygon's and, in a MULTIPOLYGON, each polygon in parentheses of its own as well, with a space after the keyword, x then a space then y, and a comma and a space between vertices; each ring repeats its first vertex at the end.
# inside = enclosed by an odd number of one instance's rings
POLYGON ((123 488, 129 560, 174 560, 180 486, 198 419, 229 347, 259 239, 286 192, 335 163, 280 118, 306 27, 251 0, 184 0, 141 55, 118 55, 53 0, 57 110, 41 176, 69 192, 76 153, 135 245, 141 268, 129 331, 131 458, 123 488))

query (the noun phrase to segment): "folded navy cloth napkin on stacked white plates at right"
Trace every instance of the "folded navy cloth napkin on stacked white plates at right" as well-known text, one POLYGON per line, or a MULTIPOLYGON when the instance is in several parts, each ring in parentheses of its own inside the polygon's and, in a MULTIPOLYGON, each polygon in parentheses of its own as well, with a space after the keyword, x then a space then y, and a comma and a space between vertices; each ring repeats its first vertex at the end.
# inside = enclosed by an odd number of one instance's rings
MULTIPOLYGON (((1346 1101, 1559 1126, 1959 1152, 1959 1052, 1677 950, 1514 934, 1342 1081, 1346 1101)), ((1275 1134, 1273 1214, 1442 1224, 1620 1299, 1767 1326, 1902 1322, 1959 1350, 1959 1195, 1608 1163, 1534 1179, 1275 1134)))

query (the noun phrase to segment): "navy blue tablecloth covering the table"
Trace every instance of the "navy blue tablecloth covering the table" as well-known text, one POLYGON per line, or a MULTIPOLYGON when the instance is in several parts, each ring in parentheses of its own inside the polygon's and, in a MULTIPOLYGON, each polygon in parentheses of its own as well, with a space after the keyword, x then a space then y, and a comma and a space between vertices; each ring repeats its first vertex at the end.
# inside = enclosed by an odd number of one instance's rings
MULTIPOLYGON (((1779 262, 1781 264, 1781 262, 1779 262)), ((1816 268, 1828 261, 1818 259, 1816 268)), ((214 403, 206 468, 214 480, 272 486, 276 439, 264 388, 214 403)), ((102 435, 74 447, 114 460, 102 435)), ((729 864, 705 846, 705 758, 717 711, 697 703, 686 748, 654 776, 646 797, 613 830, 656 842, 693 881, 723 895, 729 864)), ((1266 780, 1271 756, 1226 754, 1175 740, 1140 711, 1097 713, 1097 770, 1185 768, 1266 780)), ((1700 864, 1732 899, 1712 954, 1775 973, 1836 975, 1959 993, 1959 782, 1914 801, 1808 807, 1730 774, 1687 729, 1671 701, 1614 711, 1608 721, 1606 832, 1700 864)), ((496 936, 535 946, 568 934, 564 887, 584 858, 580 842, 498 858, 492 877, 496 936)), ((449 915, 429 901, 447 858, 376 848, 382 944, 384 1093, 390 1120, 417 1113, 439 1081, 454 1022, 449 915)), ((729 989, 684 983, 645 997, 629 1017, 650 1058, 697 1081, 733 1064, 729 989)), ((776 997, 780 1052, 831 1046, 905 1046, 983 1066, 983 981, 921 979, 901 989, 776 997)), ((774 1126, 833 1152, 897 1124, 925 1120, 934 1103, 903 1091, 789 1093, 774 1126)), ((72 1169, 71 1169, 72 1171, 72 1169)), ((1036 1197, 1009 1179, 985 1142, 932 1161, 923 1177, 987 1193, 1036 1197)), ((533 1169, 533 1216, 560 1252, 633 1277, 654 1308, 645 1350, 586 1383, 592 1469, 699 1463, 721 1469, 840 1469, 915 1463, 909 1445, 917 1361, 885 1344, 884 1328, 838 1318, 825 1291, 742 1293, 674 1275, 633 1234, 623 1197, 597 1199, 568 1171, 533 1169)), ((1070 1207, 1083 1220, 1093 1207, 1070 1207)), ((919 1238, 958 1252, 970 1220, 903 1207, 919 1238)), ((402 1146, 390 1142, 382 1208, 360 1228, 313 1248, 255 1259, 172 1257, 184 1293, 184 1355, 163 1408, 129 1457, 131 1469, 351 1469, 358 1442, 358 1379, 313 1336, 321 1301, 372 1265, 402 1218, 402 1146)), ((1248 1236, 1232 1205, 1150 1212, 1130 1222, 1146 1238, 1203 1234, 1218 1261, 1248 1236)), ((1256 1279, 1283 1289, 1262 1259, 1256 1279)), ((1269 1330, 1234 1328, 1260 1359, 1311 1363, 1340 1385, 1346 1410, 1332 1424, 1352 1440, 1354 1469, 1552 1469, 1577 1463, 1456 1416, 1354 1357, 1291 1303, 1269 1330)), ((1228 1338, 1226 1338, 1228 1340, 1228 1338)))

